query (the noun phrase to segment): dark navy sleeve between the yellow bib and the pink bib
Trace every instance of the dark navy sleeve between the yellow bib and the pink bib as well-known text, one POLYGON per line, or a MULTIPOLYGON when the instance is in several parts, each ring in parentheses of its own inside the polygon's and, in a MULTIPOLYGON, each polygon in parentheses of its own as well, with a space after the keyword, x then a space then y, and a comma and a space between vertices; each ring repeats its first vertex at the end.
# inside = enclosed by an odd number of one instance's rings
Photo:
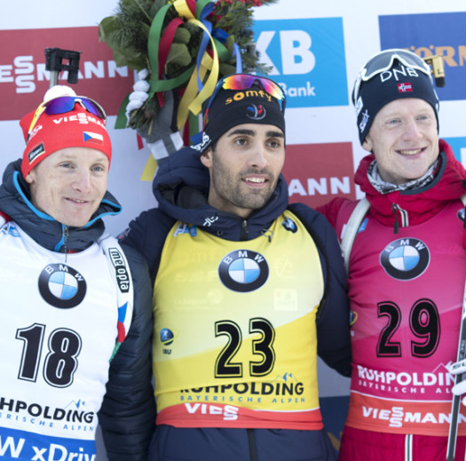
POLYGON ((350 305, 336 232, 323 215, 306 205, 296 203, 289 208, 303 221, 320 250, 326 294, 317 317, 317 352, 329 367, 350 377, 350 305))

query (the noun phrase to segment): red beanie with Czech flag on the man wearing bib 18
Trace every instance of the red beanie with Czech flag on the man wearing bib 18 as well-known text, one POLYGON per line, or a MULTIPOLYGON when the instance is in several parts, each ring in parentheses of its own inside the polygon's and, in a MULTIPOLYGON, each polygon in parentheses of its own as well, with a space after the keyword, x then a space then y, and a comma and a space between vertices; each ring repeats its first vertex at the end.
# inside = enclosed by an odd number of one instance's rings
MULTIPOLYGON (((75 91, 69 88, 67 90, 67 95, 75 94, 75 91)), ((97 149, 107 155, 110 163, 112 145, 105 126, 106 122, 104 119, 88 112, 79 103, 79 98, 79 96, 76 97, 75 107, 65 114, 47 115, 43 112, 37 118, 31 131, 29 131, 29 128, 36 111, 30 112, 20 120, 24 139, 27 143, 21 163, 23 178, 26 178, 28 172, 37 163, 42 162, 45 157, 66 147, 97 149)))

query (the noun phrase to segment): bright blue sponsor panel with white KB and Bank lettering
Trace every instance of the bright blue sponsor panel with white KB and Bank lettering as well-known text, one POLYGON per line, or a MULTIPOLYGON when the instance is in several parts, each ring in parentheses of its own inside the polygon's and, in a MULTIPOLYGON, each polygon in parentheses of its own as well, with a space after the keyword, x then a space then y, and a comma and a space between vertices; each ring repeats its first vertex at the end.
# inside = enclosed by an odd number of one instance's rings
POLYGON ((254 34, 287 107, 348 105, 342 18, 257 20, 254 34))

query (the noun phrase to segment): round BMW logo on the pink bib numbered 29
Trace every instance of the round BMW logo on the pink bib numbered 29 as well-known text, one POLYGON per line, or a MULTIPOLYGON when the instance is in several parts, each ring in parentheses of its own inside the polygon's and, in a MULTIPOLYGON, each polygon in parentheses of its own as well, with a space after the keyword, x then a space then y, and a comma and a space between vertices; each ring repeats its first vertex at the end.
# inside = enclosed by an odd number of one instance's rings
POLYGON ((389 243, 380 255, 385 272, 398 280, 412 280, 429 266, 430 252, 427 245, 414 238, 389 243))

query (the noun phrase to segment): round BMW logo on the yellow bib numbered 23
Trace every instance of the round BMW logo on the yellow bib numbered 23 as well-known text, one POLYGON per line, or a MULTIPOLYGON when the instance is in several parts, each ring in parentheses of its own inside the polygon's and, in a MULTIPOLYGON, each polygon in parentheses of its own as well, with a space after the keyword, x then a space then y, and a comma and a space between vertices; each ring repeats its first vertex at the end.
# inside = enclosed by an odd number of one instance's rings
POLYGON ((226 288, 247 293, 264 285, 269 277, 269 266, 256 251, 235 250, 222 259, 218 276, 226 288))

